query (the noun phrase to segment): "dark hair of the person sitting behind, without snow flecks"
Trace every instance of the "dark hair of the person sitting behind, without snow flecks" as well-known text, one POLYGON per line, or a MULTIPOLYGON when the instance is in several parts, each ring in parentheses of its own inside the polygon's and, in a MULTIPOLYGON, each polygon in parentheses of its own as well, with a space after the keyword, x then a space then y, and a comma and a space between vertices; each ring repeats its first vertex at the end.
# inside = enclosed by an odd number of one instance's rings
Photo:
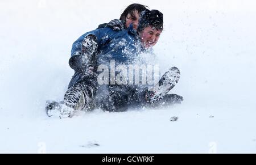
POLYGON ((135 17, 134 11, 137 10, 140 14, 142 11, 147 10, 147 8, 147 6, 138 3, 133 3, 126 7, 125 11, 123 11, 123 13, 120 16, 120 20, 125 21, 128 14, 131 14, 131 16, 135 17))

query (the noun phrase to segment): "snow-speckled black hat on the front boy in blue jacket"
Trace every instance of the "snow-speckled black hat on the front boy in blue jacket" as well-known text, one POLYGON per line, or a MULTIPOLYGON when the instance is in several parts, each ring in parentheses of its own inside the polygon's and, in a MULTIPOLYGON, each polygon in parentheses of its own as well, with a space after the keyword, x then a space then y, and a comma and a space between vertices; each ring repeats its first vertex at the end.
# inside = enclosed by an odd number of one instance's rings
POLYGON ((143 31, 146 27, 156 28, 158 31, 163 31, 163 14, 158 10, 145 10, 141 13, 139 19, 138 32, 143 31))

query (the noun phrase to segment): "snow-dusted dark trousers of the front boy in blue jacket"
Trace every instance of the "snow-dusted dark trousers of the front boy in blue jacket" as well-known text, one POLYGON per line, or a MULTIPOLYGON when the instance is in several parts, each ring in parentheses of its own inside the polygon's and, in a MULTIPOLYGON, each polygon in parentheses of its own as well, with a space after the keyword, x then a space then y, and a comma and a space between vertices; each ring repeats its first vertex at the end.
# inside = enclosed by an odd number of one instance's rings
POLYGON ((82 70, 77 70, 73 75, 68 88, 75 83, 83 86, 86 97, 90 103, 86 109, 101 108, 109 112, 127 111, 129 107, 141 108, 146 104, 147 88, 135 85, 98 85, 96 74, 84 74, 82 70))

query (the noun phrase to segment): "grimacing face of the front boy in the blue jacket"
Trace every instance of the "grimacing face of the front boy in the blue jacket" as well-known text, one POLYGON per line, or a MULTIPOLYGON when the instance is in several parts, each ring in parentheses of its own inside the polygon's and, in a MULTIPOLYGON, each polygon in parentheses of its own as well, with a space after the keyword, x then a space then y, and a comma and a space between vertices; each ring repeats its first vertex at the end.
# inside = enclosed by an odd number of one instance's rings
POLYGON ((141 42, 144 48, 150 48, 154 46, 161 35, 162 31, 157 30, 156 28, 146 27, 142 32, 139 32, 139 36, 141 37, 141 42))

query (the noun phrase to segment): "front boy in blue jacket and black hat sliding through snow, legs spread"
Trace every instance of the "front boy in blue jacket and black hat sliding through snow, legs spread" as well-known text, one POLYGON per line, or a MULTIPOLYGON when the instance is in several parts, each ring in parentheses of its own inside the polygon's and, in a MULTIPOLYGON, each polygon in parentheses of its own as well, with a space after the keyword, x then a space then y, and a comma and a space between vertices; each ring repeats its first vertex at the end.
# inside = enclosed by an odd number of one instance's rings
MULTIPOLYGON (((72 117, 82 109, 98 107, 105 111, 119 112, 126 111, 129 105, 138 104, 139 107, 141 104, 159 102, 179 81, 180 72, 176 67, 167 71, 152 91, 126 84, 100 86, 97 67, 109 61, 115 61, 115 65, 134 64, 134 59, 141 52, 151 50, 158 42, 162 31, 163 14, 158 10, 145 10, 137 31, 131 24, 127 30, 100 28, 82 35, 72 46, 69 65, 75 74, 64 95, 64 101, 47 103, 48 116, 55 113, 55 110, 60 117, 72 117), (97 97, 98 91, 101 91, 101 97, 97 97)), ((179 102, 182 100, 181 96, 172 95, 174 98, 179 102)))

